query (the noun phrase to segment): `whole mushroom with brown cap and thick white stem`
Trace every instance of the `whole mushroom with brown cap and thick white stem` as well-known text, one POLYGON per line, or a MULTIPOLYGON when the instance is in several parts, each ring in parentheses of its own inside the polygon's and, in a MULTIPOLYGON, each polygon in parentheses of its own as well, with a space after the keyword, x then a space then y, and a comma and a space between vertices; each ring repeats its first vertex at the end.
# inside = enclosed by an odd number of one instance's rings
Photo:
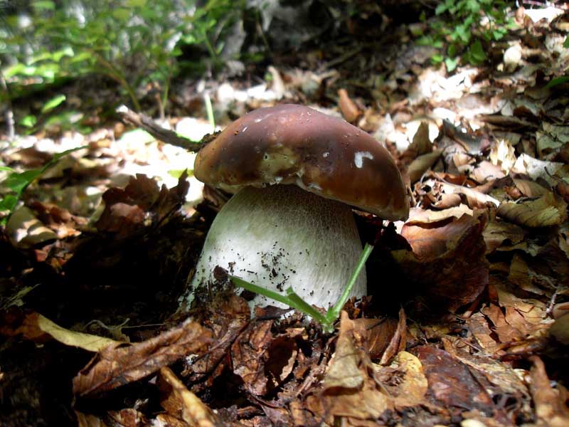
MULTIPOLYGON (((351 206, 393 221, 409 213, 388 151, 348 122, 301 105, 240 117, 198 152, 194 174, 234 195, 211 224, 186 302, 220 266, 327 308, 362 251, 351 206)), ((362 273, 351 295, 366 291, 362 273)), ((262 295, 250 303, 282 307, 262 295)))

